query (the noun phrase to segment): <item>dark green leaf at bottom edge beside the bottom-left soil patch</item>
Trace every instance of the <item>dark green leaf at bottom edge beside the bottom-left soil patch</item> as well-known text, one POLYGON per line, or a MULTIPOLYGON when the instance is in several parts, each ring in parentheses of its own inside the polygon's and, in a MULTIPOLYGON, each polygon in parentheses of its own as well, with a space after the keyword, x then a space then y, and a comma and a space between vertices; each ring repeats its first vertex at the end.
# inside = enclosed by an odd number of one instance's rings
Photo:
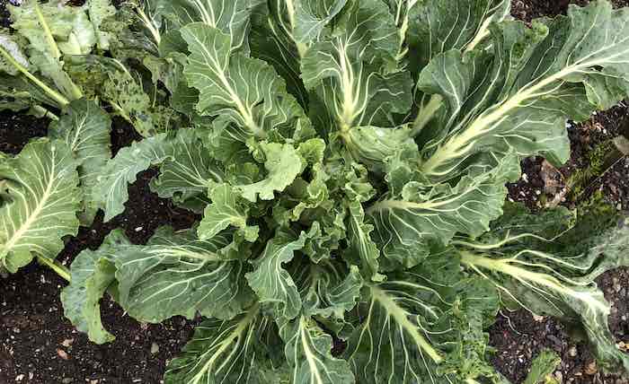
POLYGON ((207 319, 168 364, 164 382, 288 384, 288 369, 272 363, 281 353, 278 342, 277 327, 258 305, 229 321, 207 319))

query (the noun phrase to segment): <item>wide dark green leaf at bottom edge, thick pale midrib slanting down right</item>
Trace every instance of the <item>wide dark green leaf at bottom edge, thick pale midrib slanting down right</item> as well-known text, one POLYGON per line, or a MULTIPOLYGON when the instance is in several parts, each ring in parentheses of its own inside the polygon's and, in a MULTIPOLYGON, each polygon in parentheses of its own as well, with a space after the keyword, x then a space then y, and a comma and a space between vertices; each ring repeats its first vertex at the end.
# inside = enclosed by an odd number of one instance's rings
POLYGON ((357 381, 447 383, 491 377, 482 329, 498 310, 496 293, 488 284, 465 279, 439 292, 443 287, 414 272, 368 288, 360 309, 364 321, 346 351, 357 381))

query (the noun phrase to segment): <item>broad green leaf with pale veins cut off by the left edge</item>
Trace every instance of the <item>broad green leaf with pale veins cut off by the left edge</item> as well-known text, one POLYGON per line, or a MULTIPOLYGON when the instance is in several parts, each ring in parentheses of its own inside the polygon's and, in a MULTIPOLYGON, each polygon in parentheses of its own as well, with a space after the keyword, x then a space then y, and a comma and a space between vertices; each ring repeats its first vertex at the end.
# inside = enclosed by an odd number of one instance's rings
POLYGON ((32 141, 0 160, 0 266, 16 272, 34 255, 54 259, 75 235, 81 210, 78 161, 62 141, 32 141))

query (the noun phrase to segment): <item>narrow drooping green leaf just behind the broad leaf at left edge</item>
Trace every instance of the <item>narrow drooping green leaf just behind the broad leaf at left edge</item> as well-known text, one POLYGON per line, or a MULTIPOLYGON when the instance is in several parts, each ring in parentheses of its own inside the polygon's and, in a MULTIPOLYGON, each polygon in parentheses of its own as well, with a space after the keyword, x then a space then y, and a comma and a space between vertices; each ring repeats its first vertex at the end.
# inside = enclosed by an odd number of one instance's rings
POLYGON ((49 137, 66 142, 79 161, 79 177, 84 194, 82 222, 89 225, 99 209, 95 187, 99 175, 111 159, 111 118, 96 103, 72 101, 66 114, 49 127, 49 137))

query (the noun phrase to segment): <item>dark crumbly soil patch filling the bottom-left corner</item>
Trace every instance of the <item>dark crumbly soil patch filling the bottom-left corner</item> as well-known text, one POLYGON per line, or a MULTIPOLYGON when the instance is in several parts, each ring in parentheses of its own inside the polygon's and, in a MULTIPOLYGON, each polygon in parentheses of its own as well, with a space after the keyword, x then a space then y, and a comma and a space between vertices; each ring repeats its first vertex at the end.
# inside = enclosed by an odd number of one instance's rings
POLYGON ((66 283, 32 265, 4 280, 0 302, 0 383, 159 383, 165 364, 192 333, 174 318, 139 324, 113 301, 102 301, 105 326, 116 336, 95 345, 64 317, 59 290, 66 283))

